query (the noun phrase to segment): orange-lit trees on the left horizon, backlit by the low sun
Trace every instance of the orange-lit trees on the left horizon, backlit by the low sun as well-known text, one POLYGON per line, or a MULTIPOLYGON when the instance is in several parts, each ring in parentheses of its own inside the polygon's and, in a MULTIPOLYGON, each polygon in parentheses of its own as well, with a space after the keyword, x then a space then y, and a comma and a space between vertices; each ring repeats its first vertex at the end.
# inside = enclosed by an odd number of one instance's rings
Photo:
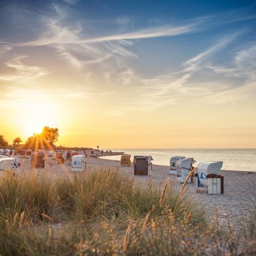
MULTIPOLYGON (((25 146, 29 148, 51 148, 54 146, 54 143, 58 141, 59 136, 60 135, 58 133, 58 128, 44 126, 40 134, 34 133, 32 136, 27 138, 27 140, 25 141, 25 146)), ((8 141, 4 138, 4 136, 0 135, 1 147, 15 147, 21 145, 22 142, 23 141, 20 137, 16 137, 14 138, 12 145, 9 145, 8 141)))

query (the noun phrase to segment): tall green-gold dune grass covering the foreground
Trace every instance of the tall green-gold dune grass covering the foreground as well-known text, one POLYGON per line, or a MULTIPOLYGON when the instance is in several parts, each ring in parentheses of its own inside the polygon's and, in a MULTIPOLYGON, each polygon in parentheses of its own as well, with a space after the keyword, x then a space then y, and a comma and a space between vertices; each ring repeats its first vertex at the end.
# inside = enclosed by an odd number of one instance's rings
POLYGON ((224 232, 171 182, 135 183, 117 169, 0 176, 1 255, 255 255, 251 227, 224 232))

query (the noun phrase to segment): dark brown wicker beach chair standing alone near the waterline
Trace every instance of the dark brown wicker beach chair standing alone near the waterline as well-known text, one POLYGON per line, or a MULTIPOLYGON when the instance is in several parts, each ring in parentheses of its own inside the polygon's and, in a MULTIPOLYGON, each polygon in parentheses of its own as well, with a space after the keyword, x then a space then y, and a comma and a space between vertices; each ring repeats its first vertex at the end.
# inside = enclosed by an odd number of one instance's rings
POLYGON ((152 160, 152 156, 134 156, 134 175, 151 175, 152 160))

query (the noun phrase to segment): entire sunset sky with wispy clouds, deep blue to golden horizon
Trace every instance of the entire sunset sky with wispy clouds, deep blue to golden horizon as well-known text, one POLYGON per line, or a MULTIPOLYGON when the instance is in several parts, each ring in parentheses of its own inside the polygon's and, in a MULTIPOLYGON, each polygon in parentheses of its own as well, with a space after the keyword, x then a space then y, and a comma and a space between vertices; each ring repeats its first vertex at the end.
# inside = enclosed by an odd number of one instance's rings
POLYGON ((255 148, 255 1, 0 3, 0 134, 255 148))

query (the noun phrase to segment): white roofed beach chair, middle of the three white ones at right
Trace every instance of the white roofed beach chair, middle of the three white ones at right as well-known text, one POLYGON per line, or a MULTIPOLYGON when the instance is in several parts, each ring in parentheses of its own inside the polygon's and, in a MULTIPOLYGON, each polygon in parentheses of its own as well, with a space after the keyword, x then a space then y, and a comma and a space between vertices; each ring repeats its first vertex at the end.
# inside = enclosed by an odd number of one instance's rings
MULTIPOLYGON (((196 161, 194 158, 184 158, 184 159, 179 159, 176 162, 176 169, 177 169, 177 180, 180 183, 184 183, 186 180, 186 177, 188 177, 189 173, 191 170, 193 170, 193 163, 196 161)), ((187 183, 193 183, 193 175, 189 178, 187 183)))

